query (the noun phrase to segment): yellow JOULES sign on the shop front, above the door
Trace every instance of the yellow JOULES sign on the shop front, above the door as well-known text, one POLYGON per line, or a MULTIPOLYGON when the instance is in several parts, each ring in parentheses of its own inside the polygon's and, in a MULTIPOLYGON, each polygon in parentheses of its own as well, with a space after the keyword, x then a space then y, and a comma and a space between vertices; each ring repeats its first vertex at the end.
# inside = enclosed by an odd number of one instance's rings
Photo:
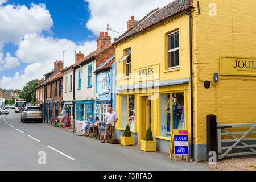
POLYGON ((135 82, 159 80, 159 64, 134 69, 135 82))

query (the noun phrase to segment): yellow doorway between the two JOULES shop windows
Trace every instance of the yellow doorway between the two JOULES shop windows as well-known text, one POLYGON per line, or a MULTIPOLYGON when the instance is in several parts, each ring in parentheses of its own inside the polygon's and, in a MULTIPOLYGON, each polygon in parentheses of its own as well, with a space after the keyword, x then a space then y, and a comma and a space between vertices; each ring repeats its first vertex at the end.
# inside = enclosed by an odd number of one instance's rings
POLYGON ((152 126, 152 102, 150 96, 141 97, 141 139, 144 140, 146 132, 152 126))

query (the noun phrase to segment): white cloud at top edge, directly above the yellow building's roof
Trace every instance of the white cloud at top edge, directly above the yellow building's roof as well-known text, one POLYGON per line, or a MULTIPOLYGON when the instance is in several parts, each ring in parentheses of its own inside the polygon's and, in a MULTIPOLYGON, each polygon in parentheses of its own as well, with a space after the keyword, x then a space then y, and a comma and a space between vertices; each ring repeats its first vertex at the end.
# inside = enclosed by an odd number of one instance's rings
POLYGON ((89 2, 91 17, 86 24, 86 28, 93 31, 94 35, 106 30, 109 23, 110 27, 119 34, 109 31, 112 38, 117 38, 127 30, 127 21, 131 16, 135 20, 141 20, 150 11, 161 8, 172 0, 84 0, 89 2))

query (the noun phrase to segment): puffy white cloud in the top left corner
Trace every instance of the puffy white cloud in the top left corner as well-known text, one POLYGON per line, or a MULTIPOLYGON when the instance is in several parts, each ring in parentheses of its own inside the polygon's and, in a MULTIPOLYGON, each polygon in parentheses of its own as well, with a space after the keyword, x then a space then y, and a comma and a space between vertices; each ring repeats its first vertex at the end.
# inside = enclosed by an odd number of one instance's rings
MULTIPOLYGON (((0 0, 2 1, 2 0, 0 0)), ((2 1, 4 2, 4 1, 2 1)), ((18 43, 26 34, 51 31, 53 20, 44 7, 32 4, 27 6, 0 6, 0 42, 18 43)))

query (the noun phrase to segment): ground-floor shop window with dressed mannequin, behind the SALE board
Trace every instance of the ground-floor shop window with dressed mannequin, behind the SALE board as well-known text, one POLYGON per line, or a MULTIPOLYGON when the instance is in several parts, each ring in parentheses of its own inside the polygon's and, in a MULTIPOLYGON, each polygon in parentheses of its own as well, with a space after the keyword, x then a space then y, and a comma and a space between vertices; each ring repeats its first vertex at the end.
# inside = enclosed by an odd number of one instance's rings
POLYGON ((160 94, 160 136, 171 137, 171 129, 185 129, 184 93, 160 94))

